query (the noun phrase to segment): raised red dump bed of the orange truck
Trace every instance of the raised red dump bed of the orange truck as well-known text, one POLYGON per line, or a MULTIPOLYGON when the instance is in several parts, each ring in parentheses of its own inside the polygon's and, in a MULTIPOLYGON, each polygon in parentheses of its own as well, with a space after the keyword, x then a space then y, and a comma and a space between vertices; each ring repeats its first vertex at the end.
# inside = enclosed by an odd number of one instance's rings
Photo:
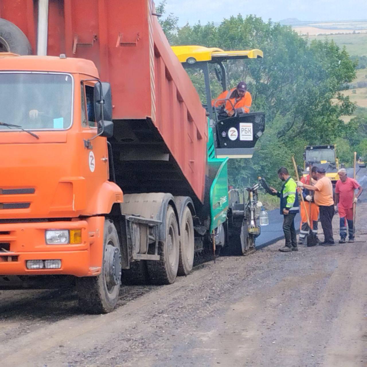
MULTIPOLYGON (((205 110, 154 12, 151 0, 50 0, 47 54, 90 59, 111 83, 112 146, 125 193, 203 201, 205 110)), ((0 17, 26 34, 36 54, 38 0, 1 0, 0 17)))

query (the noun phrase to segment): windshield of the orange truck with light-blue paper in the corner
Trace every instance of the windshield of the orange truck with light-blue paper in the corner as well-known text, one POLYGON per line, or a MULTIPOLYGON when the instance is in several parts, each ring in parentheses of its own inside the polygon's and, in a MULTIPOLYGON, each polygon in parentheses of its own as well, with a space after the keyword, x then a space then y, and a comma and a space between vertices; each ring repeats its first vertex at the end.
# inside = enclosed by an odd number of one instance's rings
POLYGON ((0 73, 0 121, 27 130, 67 129, 72 91, 68 74, 0 73))

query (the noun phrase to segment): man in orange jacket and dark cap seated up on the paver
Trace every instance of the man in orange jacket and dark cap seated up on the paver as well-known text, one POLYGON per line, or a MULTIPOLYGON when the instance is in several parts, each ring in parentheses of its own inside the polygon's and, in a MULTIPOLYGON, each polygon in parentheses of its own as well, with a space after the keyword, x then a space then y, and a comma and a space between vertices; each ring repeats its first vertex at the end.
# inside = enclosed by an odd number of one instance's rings
POLYGON ((244 81, 238 83, 236 88, 232 88, 229 91, 224 91, 223 93, 219 94, 216 99, 211 101, 211 105, 213 107, 222 107, 224 112, 229 117, 232 117, 235 112, 237 112, 237 115, 239 113, 249 113, 251 103, 252 97, 250 92, 247 91, 247 84, 244 81), (235 109, 233 109, 233 107, 235 109))

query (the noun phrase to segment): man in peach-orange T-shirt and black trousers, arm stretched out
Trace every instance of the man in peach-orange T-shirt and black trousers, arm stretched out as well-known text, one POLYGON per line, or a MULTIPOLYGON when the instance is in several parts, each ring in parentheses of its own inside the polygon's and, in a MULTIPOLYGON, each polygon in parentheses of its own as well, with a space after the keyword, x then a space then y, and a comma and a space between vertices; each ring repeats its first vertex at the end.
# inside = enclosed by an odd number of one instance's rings
POLYGON ((315 186, 307 185, 301 181, 297 182, 299 187, 315 191, 315 204, 320 208, 320 222, 324 232, 325 240, 320 243, 321 246, 334 246, 333 238, 333 217, 334 217, 334 199, 333 184, 330 178, 326 177, 324 168, 317 168, 317 182, 315 186))

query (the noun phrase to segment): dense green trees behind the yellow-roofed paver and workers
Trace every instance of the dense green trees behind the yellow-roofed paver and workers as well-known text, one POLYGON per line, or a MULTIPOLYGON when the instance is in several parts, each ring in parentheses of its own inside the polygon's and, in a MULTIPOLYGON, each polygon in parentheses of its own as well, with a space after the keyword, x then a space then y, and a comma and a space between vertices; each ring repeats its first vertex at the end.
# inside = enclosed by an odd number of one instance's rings
MULTIPOLYGON (((164 5, 165 1, 161 12, 164 5)), ((360 134, 361 126, 367 127, 364 117, 349 123, 340 119, 356 108, 341 91, 355 79, 357 61, 352 61, 333 41, 309 41, 289 26, 264 22, 253 15, 239 14, 224 19, 219 26, 197 23, 178 28, 177 21, 172 14, 161 19, 171 44, 264 51, 264 59, 232 61, 227 65, 228 87, 245 80, 253 98, 251 110, 266 113, 265 134, 257 143, 254 157, 230 160, 233 184, 248 186, 258 175, 275 184, 279 167, 292 168, 292 155, 298 164, 303 164, 302 153, 308 144, 337 143, 341 160, 347 164, 351 163, 353 149, 367 148, 367 139, 360 134)), ((190 76, 203 97, 203 76, 190 76)), ((219 94, 219 83, 215 77, 212 79, 213 94, 219 94)))

